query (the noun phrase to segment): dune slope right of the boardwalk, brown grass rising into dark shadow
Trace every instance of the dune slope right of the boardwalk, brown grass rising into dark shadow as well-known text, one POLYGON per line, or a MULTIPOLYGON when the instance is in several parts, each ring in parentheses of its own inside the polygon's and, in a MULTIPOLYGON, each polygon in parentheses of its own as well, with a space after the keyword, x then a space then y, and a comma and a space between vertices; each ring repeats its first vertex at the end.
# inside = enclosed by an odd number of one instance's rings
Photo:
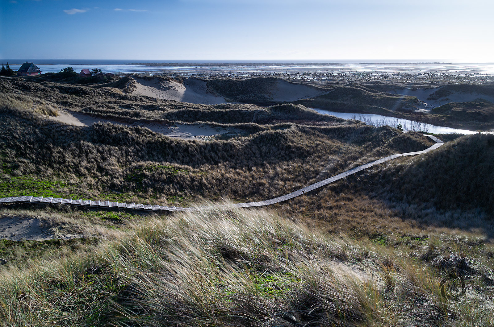
MULTIPOLYGON (((456 138, 281 206, 287 215, 356 238, 474 233, 491 240, 493 135, 456 138)), ((456 238, 457 236, 452 236, 456 238)), ((391 241, 392 240, 392 241, 391 241)))

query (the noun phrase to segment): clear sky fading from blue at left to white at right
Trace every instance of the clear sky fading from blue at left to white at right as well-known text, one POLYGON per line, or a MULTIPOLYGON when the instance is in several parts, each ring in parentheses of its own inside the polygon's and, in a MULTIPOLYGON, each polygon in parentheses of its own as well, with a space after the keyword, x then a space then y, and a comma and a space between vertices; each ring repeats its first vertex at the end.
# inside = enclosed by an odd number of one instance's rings
POLYGON ((0 0, 0 58, 494 62, 493 0, 0 0))

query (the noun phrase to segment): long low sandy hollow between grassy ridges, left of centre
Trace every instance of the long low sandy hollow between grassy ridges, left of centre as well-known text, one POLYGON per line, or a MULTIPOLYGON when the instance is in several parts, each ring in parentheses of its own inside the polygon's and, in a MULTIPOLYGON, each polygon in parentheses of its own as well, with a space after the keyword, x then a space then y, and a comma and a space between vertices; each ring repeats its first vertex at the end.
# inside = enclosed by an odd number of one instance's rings
MULTIPOLYGON (((122 124, 125 123, 116 122, 108 119, 95 118, 90 115, 81 114, 78 112, 69 112, 65 110, 58 111, 59 116, 46 116, 49 119, 56 120, 62 123, 76 125, 76 126, 90 126, 93 123, 97 122, 106 122, 106 123, 114 123, 114 124, 122 124)), ((162 133, 166 136, 178 137, 183 139, 202 139, 207 140, 212 138, 214 135, 218 134, 239 134, 241 133, 239 130, 235 128, 223 128, 216 126, 209 126, 206 124, 161 124, 161 123, 132 123, 125 124, 128 126, 141 126, 147 127, 154 132, 162 133)))

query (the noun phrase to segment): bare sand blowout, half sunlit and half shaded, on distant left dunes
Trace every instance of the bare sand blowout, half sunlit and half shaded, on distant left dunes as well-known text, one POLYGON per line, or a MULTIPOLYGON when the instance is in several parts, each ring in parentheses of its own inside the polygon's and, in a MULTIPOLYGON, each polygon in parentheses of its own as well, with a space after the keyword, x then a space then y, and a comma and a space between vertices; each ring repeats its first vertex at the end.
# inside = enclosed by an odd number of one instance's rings
POLYGON ((225 98, 208 93, 206 82, 194 78, 184 80, 183 84, 158 78, 151 80, 136 78, 135 81, 137 84, 132 94, 199 104, 226 102, 225 98))

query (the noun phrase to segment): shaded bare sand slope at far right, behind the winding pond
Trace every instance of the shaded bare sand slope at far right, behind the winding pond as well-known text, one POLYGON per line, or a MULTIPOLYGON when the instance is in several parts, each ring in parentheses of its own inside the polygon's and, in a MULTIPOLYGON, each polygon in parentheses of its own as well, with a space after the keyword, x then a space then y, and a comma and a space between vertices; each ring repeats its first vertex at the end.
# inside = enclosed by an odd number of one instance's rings
POLYGON ((397 89, 394 92, 389 91, 389 93, 415 96, 417 99, 427 104, 426 109, 428 110, 436 107, 440 107, 450 102, 471 102, 479 98, 494 102, 494 96, 489 96, 480 93, 463 93, 463 92, 454 92, 446 97, 439 98, 437 100, 427 100, 427 98, 432 93, 436 92, 441 87, 442 86, 435 88, 418 88, 418 89, 405 88, 405 89, 397 89))

